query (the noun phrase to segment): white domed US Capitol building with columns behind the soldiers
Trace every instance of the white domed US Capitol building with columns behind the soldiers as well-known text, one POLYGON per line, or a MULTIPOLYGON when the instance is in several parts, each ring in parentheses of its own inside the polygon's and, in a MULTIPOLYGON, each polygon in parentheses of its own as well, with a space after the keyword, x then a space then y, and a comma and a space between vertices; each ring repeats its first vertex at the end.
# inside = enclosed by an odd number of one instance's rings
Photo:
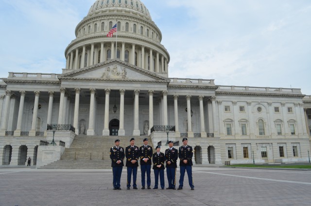
MULTIPOLYGON (((310 96, 297 88, 169 77, 170 54, 140 0, 96 0, 75 35, 59 74, 9 72, 0 79, 2 167, 25 165, 29 156, 36 167, 61 161, 78 139, 111 147, 112 139, 126 146, 130 137, 148 137, 162 149, 167 139, 178 147, 188 137, 196 164, 309 160, 310 96), (116 23, 117 44, 116 33, 106 37, 116 23)), ((88 155, 95 151, 77 144, 88 155)))

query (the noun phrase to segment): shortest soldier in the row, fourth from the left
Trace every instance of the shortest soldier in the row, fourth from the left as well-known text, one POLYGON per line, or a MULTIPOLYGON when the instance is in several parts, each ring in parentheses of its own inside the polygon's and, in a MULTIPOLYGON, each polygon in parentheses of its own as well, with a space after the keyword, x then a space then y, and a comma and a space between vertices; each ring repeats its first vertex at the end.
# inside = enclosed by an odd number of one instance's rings
POLYGON ((156 146, 155 147, 156 152, 152 155, 152 162, 154 163, 153 170, 155 172, 155 187, 154 189, 157 189, 158 183, 159 183, 159 175, 160 175, 160 185, 161 189, 164 189, 164 162, 165 162, 165 155, 160 152, 161 147, 156 146))

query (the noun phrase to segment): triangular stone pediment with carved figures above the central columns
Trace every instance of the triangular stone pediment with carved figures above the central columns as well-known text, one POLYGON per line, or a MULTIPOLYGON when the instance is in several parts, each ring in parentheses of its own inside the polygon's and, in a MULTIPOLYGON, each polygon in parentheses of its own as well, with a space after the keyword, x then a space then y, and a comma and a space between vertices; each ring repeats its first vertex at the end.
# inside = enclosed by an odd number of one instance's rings
POLYGON ((146 69, 140 69, 120 60, 111 60, 84 69, 78 69, 58 76, 59 80, 115 80, 170 82, 168 78, 146 69))

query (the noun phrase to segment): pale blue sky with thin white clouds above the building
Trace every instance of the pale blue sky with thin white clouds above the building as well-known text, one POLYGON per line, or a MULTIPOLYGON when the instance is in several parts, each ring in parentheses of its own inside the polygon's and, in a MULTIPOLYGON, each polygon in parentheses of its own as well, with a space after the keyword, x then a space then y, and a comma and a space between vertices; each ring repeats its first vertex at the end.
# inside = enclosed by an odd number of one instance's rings
MULTIPOLYGON (((170 53, 169 77, 301 88, 311 95, 311 0, 141 0, 170 53)), ((61 73, 95 0, 0 0, 0 78, 61 73)))

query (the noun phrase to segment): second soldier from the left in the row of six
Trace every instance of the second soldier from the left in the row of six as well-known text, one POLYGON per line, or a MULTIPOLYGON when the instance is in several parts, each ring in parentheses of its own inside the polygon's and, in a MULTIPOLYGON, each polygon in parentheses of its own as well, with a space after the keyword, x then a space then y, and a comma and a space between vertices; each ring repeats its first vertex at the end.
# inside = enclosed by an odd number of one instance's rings
POLYGON ((131 138, 130 145, 125 148, 126 167, 127 167, 127 184, 126 188, 131 187, 131 177, 133 172, 133 189, 137 189, 136 177, 139 159, 139 148, 135 146, 135 138, 131 138))

